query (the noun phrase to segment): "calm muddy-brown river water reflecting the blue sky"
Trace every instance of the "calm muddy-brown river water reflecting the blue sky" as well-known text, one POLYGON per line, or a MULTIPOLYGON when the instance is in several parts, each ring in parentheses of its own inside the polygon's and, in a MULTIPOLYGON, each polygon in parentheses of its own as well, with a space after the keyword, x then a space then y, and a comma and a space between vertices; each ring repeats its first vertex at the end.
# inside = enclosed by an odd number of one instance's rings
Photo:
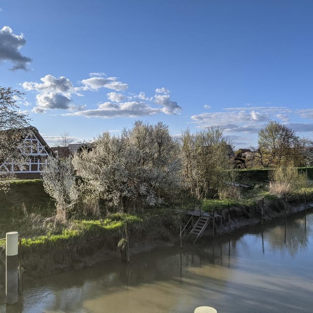
POLYGON ((313 312, 313 214, 24 282, 2 313, 313 312), (230 239, 229 239, 230 238, 230 239))

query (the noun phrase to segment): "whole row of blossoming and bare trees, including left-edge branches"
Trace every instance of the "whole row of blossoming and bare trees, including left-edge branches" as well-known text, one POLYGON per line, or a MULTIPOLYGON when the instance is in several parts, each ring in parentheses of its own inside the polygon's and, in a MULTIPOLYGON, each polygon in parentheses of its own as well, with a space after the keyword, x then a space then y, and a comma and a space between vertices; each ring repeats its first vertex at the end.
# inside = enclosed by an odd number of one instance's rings
MULTIPOLYGON (((2 160, 18 158, 18 139, 8 141, 7 130, 29 124, 16 103, 21 97, 18 90, 0 89, 2 160)), ((73 157, 50 156, 42 178, 59 218, 66 219, 79 209, 99 214, 100 208, 125 211, 173 197, 223 198, 232 188, 233 168, 312 165, 312 147, 312 140, 275 121, 260 130, 257 148, 236 154, 220 127, 172 136, 162 122, 135 121, 120 136, 99 134, 91 149, 73 157)))

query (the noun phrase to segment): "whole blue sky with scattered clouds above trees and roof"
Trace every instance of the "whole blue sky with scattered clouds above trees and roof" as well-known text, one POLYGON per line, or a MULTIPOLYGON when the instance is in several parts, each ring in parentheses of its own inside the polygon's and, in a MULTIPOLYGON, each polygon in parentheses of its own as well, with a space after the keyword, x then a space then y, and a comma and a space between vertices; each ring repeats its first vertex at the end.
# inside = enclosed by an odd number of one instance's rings
POLYGON ((269 120, 313 139, 311 0, 0 0, 0 86, 50 145, 141 119, 219 125, 237 148, 269 120))

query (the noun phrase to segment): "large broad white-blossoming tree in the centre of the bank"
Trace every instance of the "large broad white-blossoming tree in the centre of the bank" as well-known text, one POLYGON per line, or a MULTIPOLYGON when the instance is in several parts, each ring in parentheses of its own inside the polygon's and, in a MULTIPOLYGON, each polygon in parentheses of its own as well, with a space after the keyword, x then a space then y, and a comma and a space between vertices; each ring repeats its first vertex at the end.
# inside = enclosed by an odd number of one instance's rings
POLYGON ((179 145, 163 123, 136 121, 120 137, 99 135, 92 151, 74 156, 85 195, 108 207, 156 205, 179 186, 179 145))

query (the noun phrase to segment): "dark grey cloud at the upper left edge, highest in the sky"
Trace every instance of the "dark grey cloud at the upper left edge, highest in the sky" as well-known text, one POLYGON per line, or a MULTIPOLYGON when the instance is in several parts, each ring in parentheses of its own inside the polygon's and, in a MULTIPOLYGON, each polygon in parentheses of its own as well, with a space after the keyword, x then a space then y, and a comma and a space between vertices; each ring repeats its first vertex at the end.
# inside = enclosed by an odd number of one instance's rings
POLYGON ((31 58, 23 56, 19 51, 26 40, 24 35, 15 35, 9 26, 4 26, 0 30, 0 61, 11 61, 13 67, 10 70, 26 69, 26 66, 32 61, 31 58))

